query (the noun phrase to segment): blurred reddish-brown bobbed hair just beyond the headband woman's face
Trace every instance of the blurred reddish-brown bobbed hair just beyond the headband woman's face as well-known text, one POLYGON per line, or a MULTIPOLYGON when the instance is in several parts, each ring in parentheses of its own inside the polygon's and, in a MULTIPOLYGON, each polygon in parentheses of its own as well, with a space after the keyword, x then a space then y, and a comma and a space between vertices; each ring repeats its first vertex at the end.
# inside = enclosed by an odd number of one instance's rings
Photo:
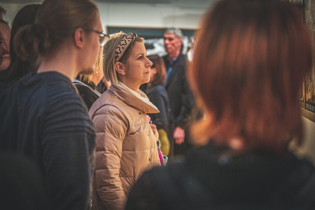
POLYGON ((158 55, 149 55, 147 57, 153 63, 150 68, 156 68, 157 70, 150 83, 153 85, 163 85, 166 81, 166 67, 163 58, 158 55))

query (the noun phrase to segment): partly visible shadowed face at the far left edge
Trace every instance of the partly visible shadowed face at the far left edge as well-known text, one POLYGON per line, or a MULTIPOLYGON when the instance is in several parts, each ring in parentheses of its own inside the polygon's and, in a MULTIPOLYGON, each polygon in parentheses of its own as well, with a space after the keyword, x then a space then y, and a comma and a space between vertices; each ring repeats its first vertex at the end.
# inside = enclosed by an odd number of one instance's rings
POLYGON ((8 68, 10 64, 10 27, 0 24, 0 70, 8 68))

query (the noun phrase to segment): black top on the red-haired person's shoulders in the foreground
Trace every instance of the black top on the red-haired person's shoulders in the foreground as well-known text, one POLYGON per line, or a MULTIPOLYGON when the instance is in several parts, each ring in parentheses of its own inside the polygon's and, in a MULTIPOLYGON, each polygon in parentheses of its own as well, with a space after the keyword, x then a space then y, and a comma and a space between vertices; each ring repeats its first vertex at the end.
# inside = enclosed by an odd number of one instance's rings
POLYGON ((314 209, 314 192, 310 162, 209 144, 144 173, 126 209, 314 209))

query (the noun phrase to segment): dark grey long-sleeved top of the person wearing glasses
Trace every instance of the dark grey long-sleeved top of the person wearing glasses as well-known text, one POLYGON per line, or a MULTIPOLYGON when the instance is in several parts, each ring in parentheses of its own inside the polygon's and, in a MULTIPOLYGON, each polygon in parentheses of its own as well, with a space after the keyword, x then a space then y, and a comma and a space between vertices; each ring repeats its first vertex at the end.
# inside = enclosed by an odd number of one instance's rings
POLYGON ((28 74, 0 94, 0 147, 31 157, 52 209, 86 209, 95 131, 69 78, 28 74))

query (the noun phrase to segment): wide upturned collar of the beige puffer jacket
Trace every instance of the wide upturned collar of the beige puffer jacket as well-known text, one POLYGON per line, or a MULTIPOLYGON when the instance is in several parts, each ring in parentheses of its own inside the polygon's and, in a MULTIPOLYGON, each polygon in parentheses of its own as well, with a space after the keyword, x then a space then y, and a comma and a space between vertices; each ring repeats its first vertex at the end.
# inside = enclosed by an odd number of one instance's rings
POLYGON ((136 109, 144 113, 157 113, 159 112, 157 107, 151 103, 145 93, 140 89, 138 92, 131 90, 125 86, 122 82, 112 84, 109 87, 109 91, 117 96, 124 103, 135 107, 136 109))

